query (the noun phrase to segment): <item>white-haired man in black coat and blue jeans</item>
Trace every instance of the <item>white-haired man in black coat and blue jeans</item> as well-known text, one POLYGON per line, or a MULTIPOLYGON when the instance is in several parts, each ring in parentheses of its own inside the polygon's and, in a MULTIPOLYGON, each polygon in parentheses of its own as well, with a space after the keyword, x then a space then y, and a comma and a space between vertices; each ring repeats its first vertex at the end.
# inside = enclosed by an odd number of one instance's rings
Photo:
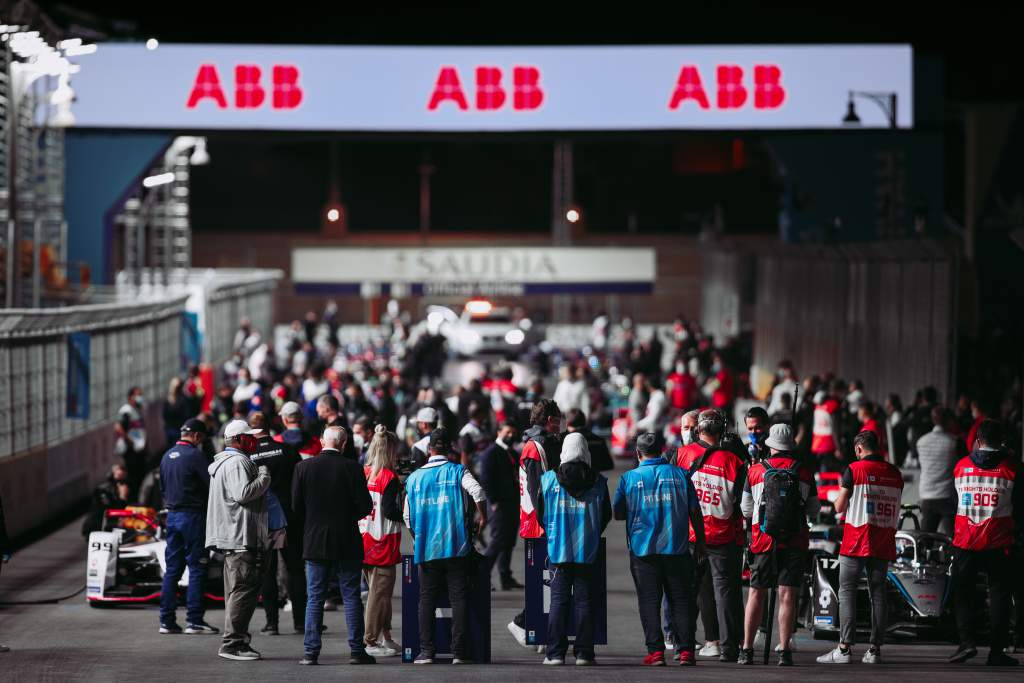
POLYGON ((347 440, 341 427, 324 432, 321 453, 295 467, 292 509, 303 527, 302 556, 306 561, 305 656, 299 664, 314 665, 321 651, 324 598, 328 582, 338 579, 348 626, 349 664, 376 664, 362 640, 362 535, 359 520, 373 510, 367 478, 359 464, 345 458, 347 440))

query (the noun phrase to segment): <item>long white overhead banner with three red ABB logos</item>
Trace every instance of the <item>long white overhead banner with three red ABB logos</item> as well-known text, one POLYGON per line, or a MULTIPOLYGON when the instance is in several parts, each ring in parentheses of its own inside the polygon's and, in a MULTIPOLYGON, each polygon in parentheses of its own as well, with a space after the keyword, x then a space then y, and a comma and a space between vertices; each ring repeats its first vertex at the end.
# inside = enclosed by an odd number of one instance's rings
MULTIPOLYGON (((83 127, 839 128, 850 91, 895 93, 898 125, 913 124, 906 45, 146 50, 115 43, 85 59, 72 83, 83 127)), ((862 108, 861 125, 889 120, 862 108)))

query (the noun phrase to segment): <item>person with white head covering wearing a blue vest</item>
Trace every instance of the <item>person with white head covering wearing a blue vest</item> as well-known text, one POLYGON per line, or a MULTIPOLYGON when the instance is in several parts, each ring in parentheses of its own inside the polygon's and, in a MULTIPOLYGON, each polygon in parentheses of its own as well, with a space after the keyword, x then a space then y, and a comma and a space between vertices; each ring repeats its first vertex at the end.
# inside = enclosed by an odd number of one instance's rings
POLYGON ((562 442, 561 465, 541 477, 539 516, 548 539, 551 607, 548 612, 548 655, 544 664, 565 664, 568 649, 569 600, 575 602, 578 667, 594 666, 594 563, 601 535, 611 521, 608 480, 591 468, 587 438, 577 432, 562 442))

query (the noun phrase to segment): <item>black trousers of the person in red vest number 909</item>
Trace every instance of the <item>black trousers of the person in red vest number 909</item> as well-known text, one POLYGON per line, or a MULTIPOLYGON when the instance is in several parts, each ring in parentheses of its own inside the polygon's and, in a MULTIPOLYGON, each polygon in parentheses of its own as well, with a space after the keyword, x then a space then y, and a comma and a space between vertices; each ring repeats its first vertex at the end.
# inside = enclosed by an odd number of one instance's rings
POLYGON ((1013 561, 1009 548, 971 551, 953 549, 952 596, 961 646, 975 644, 978 631, 978 572, 988 573, 988 608, 991 620, 989 650, 1001 652, 1010 636, 1010 595, 1013 561))

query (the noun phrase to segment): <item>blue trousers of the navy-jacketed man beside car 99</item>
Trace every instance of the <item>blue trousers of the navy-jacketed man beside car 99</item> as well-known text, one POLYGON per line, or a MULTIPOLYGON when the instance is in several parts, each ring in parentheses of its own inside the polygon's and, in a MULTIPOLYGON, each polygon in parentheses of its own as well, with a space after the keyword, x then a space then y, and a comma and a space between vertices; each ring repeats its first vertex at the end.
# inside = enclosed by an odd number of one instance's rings
POLYGON ((210 554, 206 550, 206 512, 199 510, 167 513, 167 570, 160 591, 160 623, 174 624, 178 606, 178 582, 188 567, 186 624, 203 623, 203 584, 210 554))

